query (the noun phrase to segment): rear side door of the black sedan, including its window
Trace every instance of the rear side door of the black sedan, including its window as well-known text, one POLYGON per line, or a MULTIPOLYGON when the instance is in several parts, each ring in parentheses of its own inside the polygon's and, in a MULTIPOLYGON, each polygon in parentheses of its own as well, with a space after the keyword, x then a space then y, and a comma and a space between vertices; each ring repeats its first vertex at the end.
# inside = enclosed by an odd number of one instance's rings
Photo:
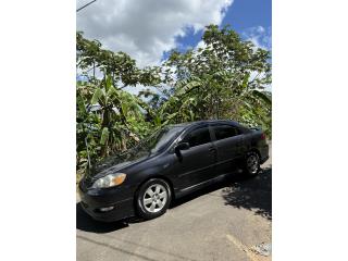
POLYGON ((244 135, 234 125, 211 125, 213 144, 217 149, 216 174, 224 174, 235 170, 238 160, 244 156, 244 135))

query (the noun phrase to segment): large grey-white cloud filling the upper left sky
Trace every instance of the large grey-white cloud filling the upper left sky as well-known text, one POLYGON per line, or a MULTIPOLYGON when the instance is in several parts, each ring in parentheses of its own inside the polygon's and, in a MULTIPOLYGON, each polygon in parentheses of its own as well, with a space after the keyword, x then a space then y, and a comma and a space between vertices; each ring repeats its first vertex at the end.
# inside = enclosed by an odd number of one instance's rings
MULTIPOLYGON (((87 0, 77 0, 77 7, 87 0)), ((233 0, 98 0, 79 11, 77 30, 108 49, 124 51, 139 66, 159 64, 185 28, 220 25, 233 0)))

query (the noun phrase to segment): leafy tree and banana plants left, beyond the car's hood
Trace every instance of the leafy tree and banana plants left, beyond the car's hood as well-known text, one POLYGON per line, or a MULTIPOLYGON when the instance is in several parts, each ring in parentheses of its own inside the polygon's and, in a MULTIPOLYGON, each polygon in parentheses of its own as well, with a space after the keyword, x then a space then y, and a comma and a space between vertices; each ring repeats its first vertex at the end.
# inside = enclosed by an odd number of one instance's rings
POLYGON ((151 129, 146 121, 152 110, 137 96, 123 90, 127 86, 145 86, 160 80, 158 67, 136 66, 124 52, 101 48, 77 33, 77 71, 87 82, 77 82, 77 170, 82 173, 100 158, 124 151, 151 129), (92 75, 89 72, 92 70, 92 75), (96 76, 96 72, 102 75, 96 76))

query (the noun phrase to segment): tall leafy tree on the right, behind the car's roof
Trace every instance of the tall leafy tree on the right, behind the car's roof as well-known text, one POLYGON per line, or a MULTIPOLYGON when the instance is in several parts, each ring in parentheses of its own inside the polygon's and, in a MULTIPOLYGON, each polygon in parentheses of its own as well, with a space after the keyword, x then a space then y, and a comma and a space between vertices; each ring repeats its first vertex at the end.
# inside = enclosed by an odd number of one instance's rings
POLYGON ((163 67, 173 96, 163 104, 163 119, 173 122, 233 119, 262 125, 270 133, 270 52, 244 41, 225 26, 207 26, 204 48, 172 51, 163 67))

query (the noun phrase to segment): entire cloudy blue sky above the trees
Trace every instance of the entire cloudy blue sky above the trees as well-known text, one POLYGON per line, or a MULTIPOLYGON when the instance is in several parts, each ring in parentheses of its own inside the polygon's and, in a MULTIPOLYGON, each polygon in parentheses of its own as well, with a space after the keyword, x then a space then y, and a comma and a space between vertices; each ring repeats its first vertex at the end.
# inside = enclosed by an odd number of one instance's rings
MULTIPOLYGON (((90 0, 77 0, 80 8, 90 0)), ((271 50, 271 0, 97 0, 76 13, 77 30, 105 49, 124 51, 140 67, 170 50, 199 45, 206 25, 229 24, 244 39, 271 50)))

